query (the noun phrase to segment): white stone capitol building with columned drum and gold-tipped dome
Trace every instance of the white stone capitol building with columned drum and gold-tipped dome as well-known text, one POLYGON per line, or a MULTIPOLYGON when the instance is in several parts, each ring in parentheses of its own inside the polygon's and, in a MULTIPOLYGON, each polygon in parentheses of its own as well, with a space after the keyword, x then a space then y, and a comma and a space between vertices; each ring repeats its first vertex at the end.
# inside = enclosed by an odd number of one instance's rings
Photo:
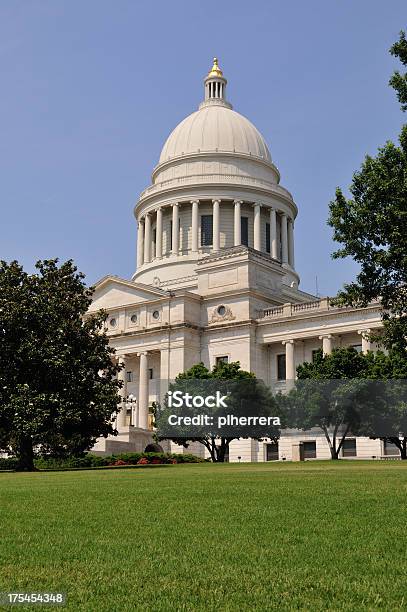
MULTIPOLYGON (((315 351, 374 350, 378 304, 340 308, 301 291, 295 267, 299 211, 267 143, 233 110, 215 59, 204 99, 167 138, 151 185, 135 207, 137 265, 131 279, 106 276, 91 311, 105 309, 107 335, 124 364, 118 436, 98 440, 103 453, 144 450, 152 439, 149 408, 168 381, 192 365, 239 361, 274 390, 315 351)), ((283 432, 271 441, 235 440, 229 461, 328 458, 319 430, 283 432)), ((170 442, 174 452, 205 456, 170 442)), ((343 455, 390 453, 380 440, 346 440, 343 455)))

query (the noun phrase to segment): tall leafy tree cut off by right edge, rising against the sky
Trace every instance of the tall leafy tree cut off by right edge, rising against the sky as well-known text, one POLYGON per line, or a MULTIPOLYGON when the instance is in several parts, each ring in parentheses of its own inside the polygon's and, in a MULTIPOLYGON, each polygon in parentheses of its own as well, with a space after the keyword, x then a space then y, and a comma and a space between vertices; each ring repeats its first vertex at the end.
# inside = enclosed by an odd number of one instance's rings
MULTIPOLYGON (((391 53, 407 66, 404 32, 391 53)), ((407 73, 394 72, 390 85, 407 110, 407 73)), ((406 350, 407 343, 407 126, 399 146, 387 142, 375 157, 366 156, 353 176, 351 198, 336 190, 328 223, 334 240, 342 246, 334 258, 352 257, 360 264, 356 280, 346 284, 335 302, 367 306, 380 300, 383 306, 383 343, 406 350)))

